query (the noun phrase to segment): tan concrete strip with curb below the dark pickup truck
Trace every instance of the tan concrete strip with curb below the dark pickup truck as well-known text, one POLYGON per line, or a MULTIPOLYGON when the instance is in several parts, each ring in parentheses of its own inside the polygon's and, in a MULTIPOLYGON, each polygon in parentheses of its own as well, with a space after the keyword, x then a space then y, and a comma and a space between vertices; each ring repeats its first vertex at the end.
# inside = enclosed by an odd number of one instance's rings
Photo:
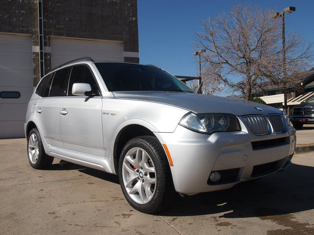
POLYGON ((314 124, 304 125, 302 129, 296 130, 295 153, 312 151, 314 151, 314 124))

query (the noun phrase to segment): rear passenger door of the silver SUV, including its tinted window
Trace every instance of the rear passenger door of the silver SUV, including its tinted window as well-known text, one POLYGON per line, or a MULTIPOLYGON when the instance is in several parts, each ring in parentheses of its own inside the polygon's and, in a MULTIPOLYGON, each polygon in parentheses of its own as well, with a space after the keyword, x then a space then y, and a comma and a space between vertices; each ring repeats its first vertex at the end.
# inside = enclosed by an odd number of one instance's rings
POLYGON ((45 94, 39 99, 36 108, 36 120, 43 131, 47 142, 52 146, 63 147, 59 126, 59 105, 66 95, 71 67, 52 74, 45 94))

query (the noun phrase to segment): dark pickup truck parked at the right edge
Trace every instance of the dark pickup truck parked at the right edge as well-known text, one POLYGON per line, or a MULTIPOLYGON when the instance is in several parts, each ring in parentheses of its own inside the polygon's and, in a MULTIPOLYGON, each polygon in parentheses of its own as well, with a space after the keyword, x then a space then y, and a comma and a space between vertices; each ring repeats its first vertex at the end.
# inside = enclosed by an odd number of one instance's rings
POLYGON ((314 96, 305 102, 293 106, 290 110, 290 119, 295 128, 302 128, 304 124, 314 123, 314 96))

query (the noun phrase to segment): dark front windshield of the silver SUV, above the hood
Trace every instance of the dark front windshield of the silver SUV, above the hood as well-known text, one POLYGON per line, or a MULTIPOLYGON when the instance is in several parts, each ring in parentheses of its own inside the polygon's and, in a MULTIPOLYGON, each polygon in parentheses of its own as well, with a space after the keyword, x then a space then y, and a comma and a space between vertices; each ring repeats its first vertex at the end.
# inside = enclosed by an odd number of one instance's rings
POLYGON ((194 93, 176 77, 150 66, 123 63, 95 63, 95 65, 110 92, 174 91, 194 93))

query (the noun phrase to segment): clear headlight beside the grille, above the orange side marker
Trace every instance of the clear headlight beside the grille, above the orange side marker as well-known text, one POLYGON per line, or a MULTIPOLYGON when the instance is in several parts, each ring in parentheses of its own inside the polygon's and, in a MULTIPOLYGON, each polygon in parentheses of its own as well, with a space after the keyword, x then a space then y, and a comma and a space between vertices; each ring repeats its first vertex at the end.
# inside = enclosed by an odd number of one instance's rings
POLYGON ((180 125, 204 134, 215 132, 240 131, 238 119, 232 114, 186 114, 180 125))

